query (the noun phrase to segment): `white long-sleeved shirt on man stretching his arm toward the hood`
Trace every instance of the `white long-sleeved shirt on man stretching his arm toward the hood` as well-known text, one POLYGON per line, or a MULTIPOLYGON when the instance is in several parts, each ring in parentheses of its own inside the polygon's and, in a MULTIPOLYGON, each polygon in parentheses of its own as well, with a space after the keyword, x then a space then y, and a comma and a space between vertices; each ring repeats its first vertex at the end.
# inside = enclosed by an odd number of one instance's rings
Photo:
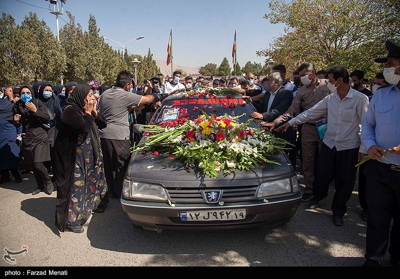
POLYGON ((310 120, 317 120, 327 114, 327 129, 323 137, 330 149, 337 151, 359 147, 359 152, 366 154, 366 148, 360 146, 361 123, 368 110, 368 97, 350 88, 343 100, 337 92, 329 94, 310 109, 289 120, 290 126, 310 120))

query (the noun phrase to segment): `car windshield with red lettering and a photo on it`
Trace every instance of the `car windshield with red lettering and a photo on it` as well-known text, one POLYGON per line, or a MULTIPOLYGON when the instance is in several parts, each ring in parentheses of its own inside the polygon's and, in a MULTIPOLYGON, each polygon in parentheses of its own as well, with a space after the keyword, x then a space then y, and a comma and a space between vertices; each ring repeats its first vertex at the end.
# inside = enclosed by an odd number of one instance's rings
MULTIPOLYGON (((243 103, 242 98, 236 97, 216 97, 216 98, 182 98, 182 99, 165 99, 162 107, 156 115, 153 122, 158 124, 164 121, 173 121, 179 117, 179 114, 186 119, 196 119, 201 111, 211 115, 222 116, 224 114, 230 116, 242 115, 238 118, 239 122, 246 122, 251 119, 249 116, 255 111, 250 103, 243 103)), ((259 128, 259 120, 254 119, 249 124, 250 127, 259 128)))

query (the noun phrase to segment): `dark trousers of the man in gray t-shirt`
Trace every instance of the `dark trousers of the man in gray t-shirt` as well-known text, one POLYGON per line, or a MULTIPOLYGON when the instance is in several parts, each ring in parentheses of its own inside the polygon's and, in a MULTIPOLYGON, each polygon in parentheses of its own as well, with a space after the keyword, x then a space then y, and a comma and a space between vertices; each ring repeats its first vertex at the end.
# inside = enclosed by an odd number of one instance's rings
MULTIPOLYGON (((126 167, 130 158, 130 141, 100 139, 103 152, 104 174, 107 181, 108 191, 111 195, 120 196, 126 167)), ((108 202, 106 194, 102 203, 108 202)))

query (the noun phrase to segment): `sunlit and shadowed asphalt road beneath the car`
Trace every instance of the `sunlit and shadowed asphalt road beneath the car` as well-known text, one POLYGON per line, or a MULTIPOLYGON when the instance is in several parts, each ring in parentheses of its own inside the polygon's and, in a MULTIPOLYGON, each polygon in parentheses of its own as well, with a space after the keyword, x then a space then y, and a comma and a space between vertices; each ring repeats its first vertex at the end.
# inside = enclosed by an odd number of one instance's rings
MULTIPOLYGON (((359 217, 356 187, 343 226, 331 221, 334 193, 308 210, 302 202, 287 224, 273 228, 163 231, 132 227, 119 200, 94 213, 85 232, 59 233, 54 225, 56 193, 31 195, 33 175, 0 185, 0 248, 13 266, 360 266, 366 222, 359 217)), ((385 261, 388 263, 388 254, 385 261)), ((12 266, 0 260, 0 266, 12 266)))

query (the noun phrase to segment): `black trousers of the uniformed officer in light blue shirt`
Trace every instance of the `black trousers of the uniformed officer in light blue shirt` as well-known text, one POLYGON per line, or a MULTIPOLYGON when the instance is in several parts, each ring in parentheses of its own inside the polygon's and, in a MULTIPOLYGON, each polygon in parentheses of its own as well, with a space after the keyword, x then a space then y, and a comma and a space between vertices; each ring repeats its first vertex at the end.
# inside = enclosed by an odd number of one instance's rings
MULTIPOLYGON (((389 242, 390 257, 400 260, 400 171, 379 165, 370 160, 365 167, 366 201, 366 254, 369 263, 382 265, 389 242)), ((372 265, 372 264, 370 264, 372 265)))

